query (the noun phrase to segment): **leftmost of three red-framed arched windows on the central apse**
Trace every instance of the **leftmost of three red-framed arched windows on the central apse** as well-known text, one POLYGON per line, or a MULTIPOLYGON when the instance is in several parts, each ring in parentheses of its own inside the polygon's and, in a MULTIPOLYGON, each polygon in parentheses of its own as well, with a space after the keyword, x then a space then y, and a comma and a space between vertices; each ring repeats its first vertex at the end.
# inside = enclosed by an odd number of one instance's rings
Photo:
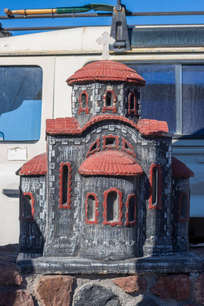
POLYGON ((85 200, 85 223, 97 224, 98 201, 95 193, 87 193, 85 200))

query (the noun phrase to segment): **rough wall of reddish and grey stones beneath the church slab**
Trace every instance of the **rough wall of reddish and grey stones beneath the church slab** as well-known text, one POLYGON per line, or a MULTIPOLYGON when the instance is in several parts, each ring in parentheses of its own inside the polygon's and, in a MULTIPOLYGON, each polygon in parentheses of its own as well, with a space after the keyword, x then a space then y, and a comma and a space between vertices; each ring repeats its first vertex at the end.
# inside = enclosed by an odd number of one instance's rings
MULTIPOLYGON (((25 266, 20 271, 15 263, 16 249, 7 249, 0 247, 0 306, 204 305, 202 256, 198 257, 201 265, 197 271, 191 272, 110 273, 104 269, 98 272, 97 268, 94 272, 94 266, 89 266, 89 272, 62 273, 46 270, 44 265, 40 273, 26 271, 25 266)), ((187 258, 189 270, 192 259, 187 258)), ((162 266, 161 262, 160 269, 162 266)))

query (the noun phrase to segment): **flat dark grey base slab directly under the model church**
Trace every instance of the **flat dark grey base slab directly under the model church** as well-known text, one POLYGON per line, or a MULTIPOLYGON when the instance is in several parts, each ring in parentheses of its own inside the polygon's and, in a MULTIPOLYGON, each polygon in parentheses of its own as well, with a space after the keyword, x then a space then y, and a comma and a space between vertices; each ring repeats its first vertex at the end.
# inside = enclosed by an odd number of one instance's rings
POLYGON ((147 274, 203 271, 203 260, 191 252, 176 252, 172 255, 121 261, 80 257, 42 257, 39 254, 19 253, 17 264, 22 272, 41 274, 147 274))

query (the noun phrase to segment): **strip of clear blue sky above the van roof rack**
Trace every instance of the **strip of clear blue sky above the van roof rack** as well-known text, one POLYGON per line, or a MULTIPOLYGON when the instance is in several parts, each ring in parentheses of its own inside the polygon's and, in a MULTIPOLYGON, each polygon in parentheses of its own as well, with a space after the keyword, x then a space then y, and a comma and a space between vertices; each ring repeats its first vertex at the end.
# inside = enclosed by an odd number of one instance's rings
MULTIPOLYGON (((107 3, 116 4, 116 0, 1 0, 0 15, 4 15, 3 8, 22 9, 22 8, 51 8, 60 6, 80 6, 88 3, 107 3)), ((122 0, 126 8, 131 11, 181 11, 181 10, 204 10, 204 0, 122 0)), ((93 11, 90 11, 93 12, 93 11)), ((57 26, 57 25, 110 25, 111 17, 86 17, 86 18, 44 18, 44 19, 19 19, 19 20, 0 20, 2 27, 14 26, 57 26)), ((176 23, 204 23, 204 15, 198 16, 129 16, 128 24, 176 24, 176 23)), ((32 31, 33 32, 33 31, 32 31)), ((30 33, 30 31, 15 31, 13 35, 30 33)))

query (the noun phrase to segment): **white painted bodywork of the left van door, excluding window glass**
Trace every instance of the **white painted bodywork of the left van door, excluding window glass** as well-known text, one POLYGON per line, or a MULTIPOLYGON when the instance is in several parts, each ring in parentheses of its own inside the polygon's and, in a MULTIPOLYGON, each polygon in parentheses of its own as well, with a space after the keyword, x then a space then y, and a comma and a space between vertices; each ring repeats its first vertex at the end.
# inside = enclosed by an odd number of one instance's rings
MULTIPOLYGON (((0 57, 0 66, 34 65, 42 69, 42 109, 39 140, 22 142, 0 141, 0 245, 16 243, 18 241, 19 199, 16 196, 11 197, 9 194, 6 194, 8 190, 18 189, 19 176, 15 175, 15 171, 26 160, 46 150, 45 119, 53 117, 54 62, 54 56, 0 57), (16 147, 26 148, 26 159, 8 160, 8 148, 16 147)), ((12 81, 14 80, 11 80, 11 85, 12 81)), ((30 114, 28 113, 27 115, 29 116, 30 114)), ((16 158, 20 157, 17 156, 16 158)))

